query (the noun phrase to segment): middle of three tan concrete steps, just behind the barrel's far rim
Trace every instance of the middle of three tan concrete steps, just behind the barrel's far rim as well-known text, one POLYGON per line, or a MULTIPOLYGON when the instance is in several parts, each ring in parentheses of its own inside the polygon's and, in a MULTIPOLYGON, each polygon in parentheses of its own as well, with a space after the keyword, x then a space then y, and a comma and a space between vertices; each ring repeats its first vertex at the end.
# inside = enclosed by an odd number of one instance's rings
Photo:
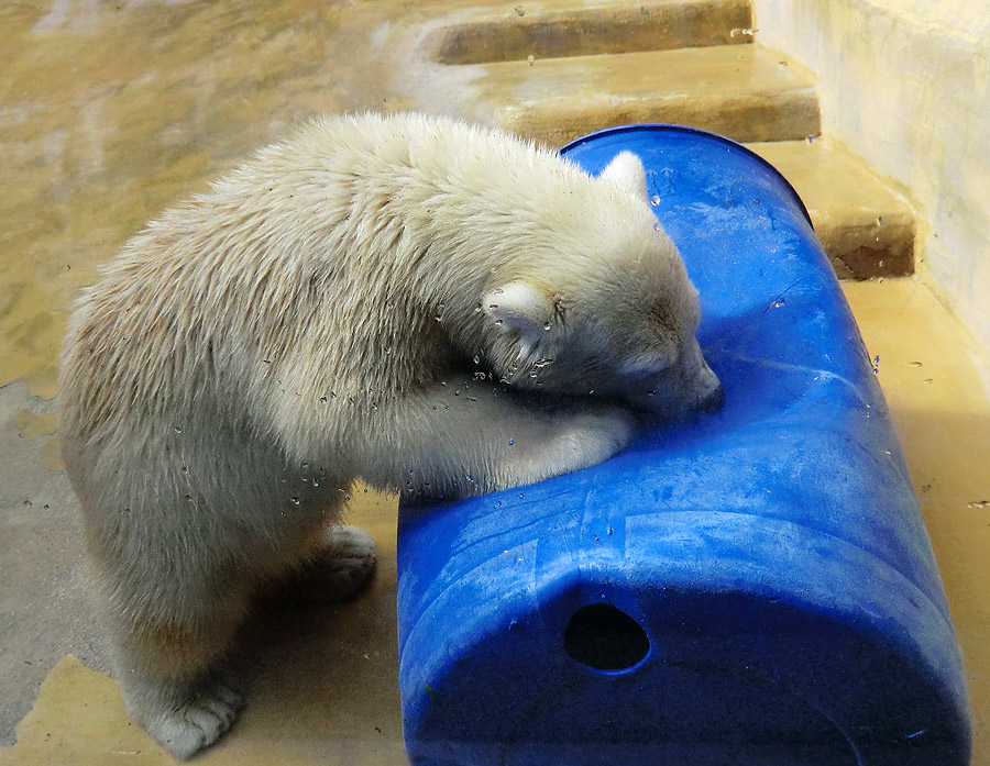
POLYGON ((694 125, 736 141, 787 141, 820 131, 812 75, 759 45, 460 68, 471 84, 466 113, 551 146, 631 122, 694 125))

